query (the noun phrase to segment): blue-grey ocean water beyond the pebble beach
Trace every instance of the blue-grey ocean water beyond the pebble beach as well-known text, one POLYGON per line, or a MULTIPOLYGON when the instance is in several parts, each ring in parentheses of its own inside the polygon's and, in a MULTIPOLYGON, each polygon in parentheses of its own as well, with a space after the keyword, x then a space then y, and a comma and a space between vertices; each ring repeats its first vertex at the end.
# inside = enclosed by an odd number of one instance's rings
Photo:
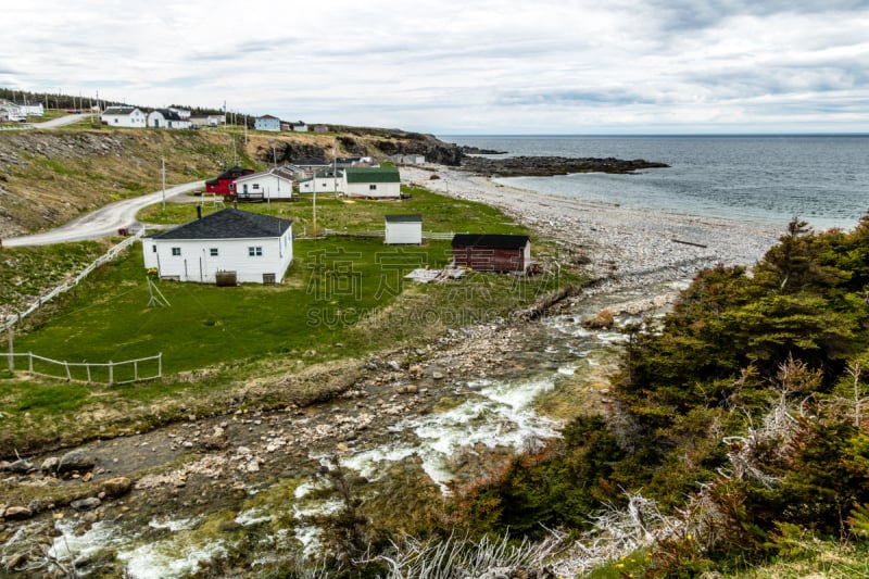
POLYGON ((780 227, 853 228, 869 211, 869 135, 439 136, 499 156, 644 159, 669 168, 637 175, 512 177, 544 193, 780 227))

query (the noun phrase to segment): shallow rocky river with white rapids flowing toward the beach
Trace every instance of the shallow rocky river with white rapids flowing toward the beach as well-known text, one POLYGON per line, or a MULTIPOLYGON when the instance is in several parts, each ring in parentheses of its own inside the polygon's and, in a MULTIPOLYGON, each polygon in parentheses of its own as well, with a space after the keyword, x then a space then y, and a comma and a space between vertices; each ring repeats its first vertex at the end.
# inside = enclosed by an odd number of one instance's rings
POLYGON ((131 492, 8 524, 3 559, 29 550, 16 569, 33 577, 48 561, 83 576, 243 576, 320 554, 319 517, 349 498, 373 528, 420 533, 455 489, 557 438, 567 420, 608 412, 626 339, 618 327, 663 314, 685 285, 580 295, 536 322, 452 330, 426 349, 368 360, 365 378, 328 403, 191 416, 88 444, 93 480, 129 475, 131 492), (581 320, 602 309, 615 327, 585 329, 581 320))

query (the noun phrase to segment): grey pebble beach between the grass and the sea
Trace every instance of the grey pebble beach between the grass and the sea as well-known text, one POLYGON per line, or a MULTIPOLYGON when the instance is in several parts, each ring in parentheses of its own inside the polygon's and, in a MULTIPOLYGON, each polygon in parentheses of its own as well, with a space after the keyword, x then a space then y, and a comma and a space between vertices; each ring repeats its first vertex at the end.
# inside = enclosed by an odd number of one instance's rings
POLYGON ((615 199, 599 203, 547 196, 445 166, 401 172, 405 182, 496 206, 538 236, 583 254, 589 262, 585 273, 599 280, 596 291, 691 278, 719 263, 751 267, 788 225, 777 231, 757 224, 640 211, 615 199))

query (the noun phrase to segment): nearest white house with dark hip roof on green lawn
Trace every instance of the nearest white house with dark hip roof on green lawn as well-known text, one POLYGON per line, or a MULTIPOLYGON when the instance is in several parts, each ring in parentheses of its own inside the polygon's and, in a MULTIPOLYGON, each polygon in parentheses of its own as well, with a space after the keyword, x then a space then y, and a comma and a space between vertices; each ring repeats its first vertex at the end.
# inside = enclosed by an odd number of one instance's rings
POLYGON ((142 238, 146 269, 160 278, 214 284, 279 284, 292 263, 292 221, 225 209, 142 238), (234 276, 232 276, 234 274, 234 276))

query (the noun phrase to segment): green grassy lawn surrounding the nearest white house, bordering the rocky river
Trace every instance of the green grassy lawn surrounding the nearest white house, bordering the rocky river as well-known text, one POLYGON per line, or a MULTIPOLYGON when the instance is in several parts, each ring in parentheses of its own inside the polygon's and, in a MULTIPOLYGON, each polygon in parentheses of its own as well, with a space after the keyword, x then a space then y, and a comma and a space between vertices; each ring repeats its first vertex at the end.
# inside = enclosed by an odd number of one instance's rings
MULTIPOLYGON (((393 202, 318 198, 318 222, 348 231, 381 229, 387 213, 421 213, 426 230, 526 232, 487 205, 419 189, 410 192, 411 199, 393 202)), ((264 203, 243 209, 269 211, 264 203)), ((165 212, 155 205, 143 217, 178 223, 191 212, 190 205, 168 204, 165 212)), ((297 219, 298 234, 312 223, 312 200, 273 204, 270 212, 297 219)), ((534 243, 534 254, 546 259, 552 246, 534 243)), ((35 260, 34 253, 45 252, 43 259, 50 261, 62 260, 67 251, 81 249, 71 244, 25 253, 16 248, 4 256, 22 252, 21 256, 35 260)), ((257 404, 282 407, 316 400, 331 388, 328 377, 316 374, 323 368, 332 378, 352 380, 357 372, 354 364, 361 365, 354 361, 378 351, 425 345, 448 328, 491 322, 562 284, 576 281, 569 274, 553 279, 471 273, 440 285, 403 278, 416 267, 449 263, 450 241, 390 247, 382 238, 297 239, 293 255, 284 282, 275 286, 219 288, 155 280, 168 306, 149 306, 141 244, 95 272, 26 318, 16 328, 15 351, 71 363, 121 362, 162 353, 164 378, 126 386, 85 385, 85 370, 71 368, 71 383, 13 375, 0 357, 4 414, 0 455, 11 448, 70 443, 147 428, 182 416, 189 408, 214 412, 239 395, 244 398, 251 383, 257 390, 249 400, 257 404), (311 376, 304 378, 306 373, 311 376), (286 376, 301 378, 288 386, 281 382, 286 376)), ((25 368, 24 358, 18 358, 16 369, 25 368)), ((48 367, 36 363, 34 369, 47 373, 48 367)), ((152 375, 155 369, 154 362, 146 363, 139 375, 152 375)), ((55 367, 52 374, 56 373, 55 367)), ((133 367, 116 368, 114 380, 128 379, 131 373, 133 367)), ((90 378, 104 382, 108 370, 95 368, 90 378)))

